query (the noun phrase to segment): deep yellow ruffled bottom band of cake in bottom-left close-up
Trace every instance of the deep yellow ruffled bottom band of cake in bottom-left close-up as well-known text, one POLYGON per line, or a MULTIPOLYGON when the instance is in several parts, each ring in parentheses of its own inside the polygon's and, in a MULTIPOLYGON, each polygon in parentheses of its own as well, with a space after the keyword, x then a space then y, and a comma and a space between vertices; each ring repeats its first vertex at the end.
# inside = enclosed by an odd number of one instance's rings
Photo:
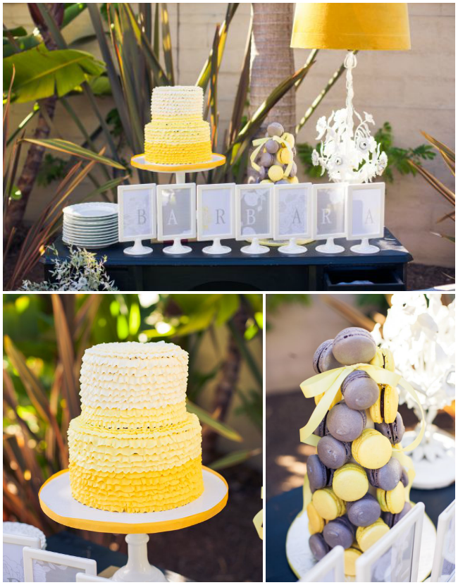
POLYGON ((73 463, 69 468, 73 498, 99 510, 161 512, 204 493, 201 457, 157 472, 97 472, 73 463))

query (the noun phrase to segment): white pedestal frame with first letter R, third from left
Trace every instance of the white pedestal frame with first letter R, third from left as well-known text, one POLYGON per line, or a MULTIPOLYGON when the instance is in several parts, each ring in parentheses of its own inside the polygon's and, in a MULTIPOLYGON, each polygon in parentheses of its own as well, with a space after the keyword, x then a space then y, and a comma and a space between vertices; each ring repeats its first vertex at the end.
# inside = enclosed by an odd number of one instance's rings
POLYGON ((205 254, 228 254, 221 240, 235 238, 235 183, 197 185, 197 240, 213 240, 205 254))

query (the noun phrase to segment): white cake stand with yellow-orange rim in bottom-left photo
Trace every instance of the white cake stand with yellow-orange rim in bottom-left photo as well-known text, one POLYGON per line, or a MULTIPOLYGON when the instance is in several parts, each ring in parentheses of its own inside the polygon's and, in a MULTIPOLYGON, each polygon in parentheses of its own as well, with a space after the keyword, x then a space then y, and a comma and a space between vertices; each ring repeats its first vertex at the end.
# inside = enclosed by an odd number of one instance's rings
POLYGON ((113 574, 112 581, 165 583, 163 572, 148 562, 149 533, 194 526, 223 510, 228 501, 228 484, 220 474, 202 467, 204 493, 190 504, 165 512, 108 512, 80 504, 70 493, 68 469, 51 476, 40 488, 43 512, 64 526, 94 532, 127 534, 128 562, 113 574))

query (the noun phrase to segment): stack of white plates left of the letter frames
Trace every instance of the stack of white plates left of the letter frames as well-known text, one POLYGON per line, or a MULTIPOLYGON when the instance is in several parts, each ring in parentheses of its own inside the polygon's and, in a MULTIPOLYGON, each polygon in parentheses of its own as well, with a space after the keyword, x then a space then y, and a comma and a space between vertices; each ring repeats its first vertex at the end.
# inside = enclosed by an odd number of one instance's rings
POLYGON ((118 204, 80 203, 63 209, 63 242, 106 248, 118 242, 118 204))

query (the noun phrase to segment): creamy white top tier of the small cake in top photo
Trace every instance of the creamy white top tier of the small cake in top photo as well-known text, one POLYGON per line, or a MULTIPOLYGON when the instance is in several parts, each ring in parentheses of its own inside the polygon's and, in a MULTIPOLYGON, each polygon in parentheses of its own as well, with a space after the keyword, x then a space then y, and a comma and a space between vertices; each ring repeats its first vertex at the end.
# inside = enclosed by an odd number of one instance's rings
POLYGON ((199 116, 204 113, 204 92, 197 85, 154 87, 151 119, 169 116, 199 116))

